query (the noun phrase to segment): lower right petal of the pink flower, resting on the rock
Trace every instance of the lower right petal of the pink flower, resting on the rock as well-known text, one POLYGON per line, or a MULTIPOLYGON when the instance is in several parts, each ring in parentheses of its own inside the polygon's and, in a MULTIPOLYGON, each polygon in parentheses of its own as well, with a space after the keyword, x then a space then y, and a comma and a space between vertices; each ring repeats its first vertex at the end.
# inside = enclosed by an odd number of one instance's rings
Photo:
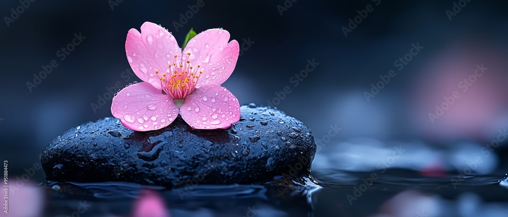
POLYGON ((240 103, 223 86, 204 85, 185 98, 180 115, 197 129, 227 128, 240 120, 240 103))

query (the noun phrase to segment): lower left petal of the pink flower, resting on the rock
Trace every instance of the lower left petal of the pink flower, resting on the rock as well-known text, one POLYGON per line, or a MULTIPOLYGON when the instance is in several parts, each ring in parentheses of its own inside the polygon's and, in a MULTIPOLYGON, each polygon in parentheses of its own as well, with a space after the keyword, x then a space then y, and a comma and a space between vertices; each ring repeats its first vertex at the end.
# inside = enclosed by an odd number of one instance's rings
POLYGON ((132 84, 113 98, 111 113, 134 131, 154 131, 168 126, 178 116, 173 99, 148 82, 132 84))

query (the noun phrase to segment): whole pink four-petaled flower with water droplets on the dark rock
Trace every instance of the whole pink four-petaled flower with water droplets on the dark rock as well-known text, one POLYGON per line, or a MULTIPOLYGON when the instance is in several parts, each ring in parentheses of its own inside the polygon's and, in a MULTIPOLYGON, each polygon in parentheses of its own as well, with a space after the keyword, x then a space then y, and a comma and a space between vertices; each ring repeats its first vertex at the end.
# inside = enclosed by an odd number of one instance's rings
POLYGON ((209 29, 188 41, 185 49, 165 28, 141 25, 129 30, 125 53, 144 82, 124 88, 113 98, 111 113, 135 131, 171 124, 178 113, 197 129, 227 128, 240 119, 236 97, 220 84, 233 70, 240 47, 230 34, 209 29))

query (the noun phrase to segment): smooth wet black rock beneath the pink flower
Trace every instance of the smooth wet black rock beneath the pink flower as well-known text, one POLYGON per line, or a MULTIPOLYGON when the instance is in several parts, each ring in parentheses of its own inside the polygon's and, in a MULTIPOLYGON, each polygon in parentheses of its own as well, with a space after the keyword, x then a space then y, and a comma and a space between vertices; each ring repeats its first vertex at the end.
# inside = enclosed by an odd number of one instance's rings
POLYGON ((315 148, 302 122, 249 104, 231 128, 213 131, 192 129, 180 117, 144 133, 116 118, 88 122, 53 140, 41 161, 53 181, 249 184, 308 175, 315 148))

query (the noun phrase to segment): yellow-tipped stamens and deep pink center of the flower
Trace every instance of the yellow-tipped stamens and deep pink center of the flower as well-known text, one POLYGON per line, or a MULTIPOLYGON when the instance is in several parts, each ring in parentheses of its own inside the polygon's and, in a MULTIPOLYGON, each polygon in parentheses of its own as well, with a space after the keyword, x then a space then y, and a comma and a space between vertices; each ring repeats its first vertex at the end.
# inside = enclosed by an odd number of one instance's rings
MULTIPOLYGON (((185 61, 177 64, 178 55, 175 55, 173 63, 169 64, 169 74, 159 73, 155 71, 162 82, 162 89, 166 94, 175 100, 183 100, 196 88, 199 76, 203 73, 200 71, 200 65, 193 67, 189 61, 190 53, 187 53, 185 61)), ((182 58, 183 60, 183 58, 182 58)))

